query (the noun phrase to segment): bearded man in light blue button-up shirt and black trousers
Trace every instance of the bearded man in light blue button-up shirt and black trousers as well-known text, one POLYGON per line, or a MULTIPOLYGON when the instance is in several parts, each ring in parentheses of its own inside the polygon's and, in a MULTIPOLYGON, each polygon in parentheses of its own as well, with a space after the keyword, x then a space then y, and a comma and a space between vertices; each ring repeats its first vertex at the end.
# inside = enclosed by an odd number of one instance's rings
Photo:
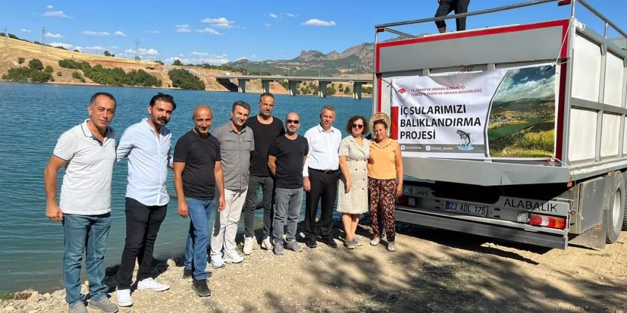
POLYGON ((166 124, 176 103, 171 95, 158 93, 150 99, 148 118, 124 131, 117 147, 117 160, 129 159, 129 185, 126 188, 126 240, 118 270, 118 305, 133 305, 130 286, 135 261, 139 264, 137 290, 164 291, 167 284, 151 274, 152 252, 157 232, 166 218, 167 168, 172 167, 172 133, 166 124))

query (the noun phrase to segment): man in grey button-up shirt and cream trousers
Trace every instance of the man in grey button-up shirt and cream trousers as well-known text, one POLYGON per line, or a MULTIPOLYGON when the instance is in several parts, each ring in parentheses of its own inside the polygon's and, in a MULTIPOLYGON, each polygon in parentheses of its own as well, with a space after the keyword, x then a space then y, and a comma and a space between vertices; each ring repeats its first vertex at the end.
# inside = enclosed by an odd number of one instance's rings
POLYGON ((211 265, 214 268, 223 267, 225 259, 233 263, 244 260, 235 251, 235 235, 248 190, 250 151, 255 150, 253 130, 246 126, 249 114, 248 103, 235 101, 231 120, 213 132, 220 143, 226 200, 224 211, 216 215, 211 234, 211 265))

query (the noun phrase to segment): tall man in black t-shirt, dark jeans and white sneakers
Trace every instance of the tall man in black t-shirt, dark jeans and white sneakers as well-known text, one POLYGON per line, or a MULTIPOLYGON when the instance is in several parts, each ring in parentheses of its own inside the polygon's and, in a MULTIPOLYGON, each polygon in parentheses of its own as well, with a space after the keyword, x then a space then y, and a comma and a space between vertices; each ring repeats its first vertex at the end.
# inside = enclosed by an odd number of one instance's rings
POLYGON ((250 180, 244 204, 244 254, 253 252, 253 219, 257 208, 257 188, 263 192, 263 241, 261 247, 271 250, 272 192, 274 183, 268 170, 268 147, 275 138, 285 134, 283 123, 273 118, 275 99, 271 93, 259 96, 259 115, 248 118, 246 125, 253 130, 255 150, 250 153, 250 180))

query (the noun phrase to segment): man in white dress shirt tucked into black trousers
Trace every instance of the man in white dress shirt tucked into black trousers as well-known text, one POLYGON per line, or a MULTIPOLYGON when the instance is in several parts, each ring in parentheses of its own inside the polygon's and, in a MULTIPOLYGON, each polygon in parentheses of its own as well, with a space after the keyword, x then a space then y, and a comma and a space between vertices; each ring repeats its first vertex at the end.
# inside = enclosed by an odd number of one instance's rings
POLYGON ((339 157, 337 151, 342 141, 342 133, 333 127, 335 108, 325 105, 320 111, 320 124, 305 133, 309 144, 309 154, 303 167, 303 188, 305 189, 305 244, 317 247, 316 239, 329 247, 337 248, 333 239, 333 206, 337 197, 337 177, 339 157), (320 232, 315 231, 315 218, 320 205, 320 232))

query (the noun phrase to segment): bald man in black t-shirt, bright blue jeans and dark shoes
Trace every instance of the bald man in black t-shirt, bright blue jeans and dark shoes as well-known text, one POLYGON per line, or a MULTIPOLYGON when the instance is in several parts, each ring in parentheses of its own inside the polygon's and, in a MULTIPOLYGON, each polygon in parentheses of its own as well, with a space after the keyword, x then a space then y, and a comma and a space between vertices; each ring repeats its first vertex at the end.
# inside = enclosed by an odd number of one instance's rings
POLYGON ((179 215, 189 216, 189 233, 185 247, 183 277, 191 276, 192 289, 200 297, 211 295, 207 285, 207 245, 209 218, 218 190, 218 212, 224 210, 224 176, 220 144, 209 133, 213 121, 211 108, 196 106, 194 129, 181 136, 174 148, 174 189, 179 215), (216 188, 216 185, 218 188, 216 188))

